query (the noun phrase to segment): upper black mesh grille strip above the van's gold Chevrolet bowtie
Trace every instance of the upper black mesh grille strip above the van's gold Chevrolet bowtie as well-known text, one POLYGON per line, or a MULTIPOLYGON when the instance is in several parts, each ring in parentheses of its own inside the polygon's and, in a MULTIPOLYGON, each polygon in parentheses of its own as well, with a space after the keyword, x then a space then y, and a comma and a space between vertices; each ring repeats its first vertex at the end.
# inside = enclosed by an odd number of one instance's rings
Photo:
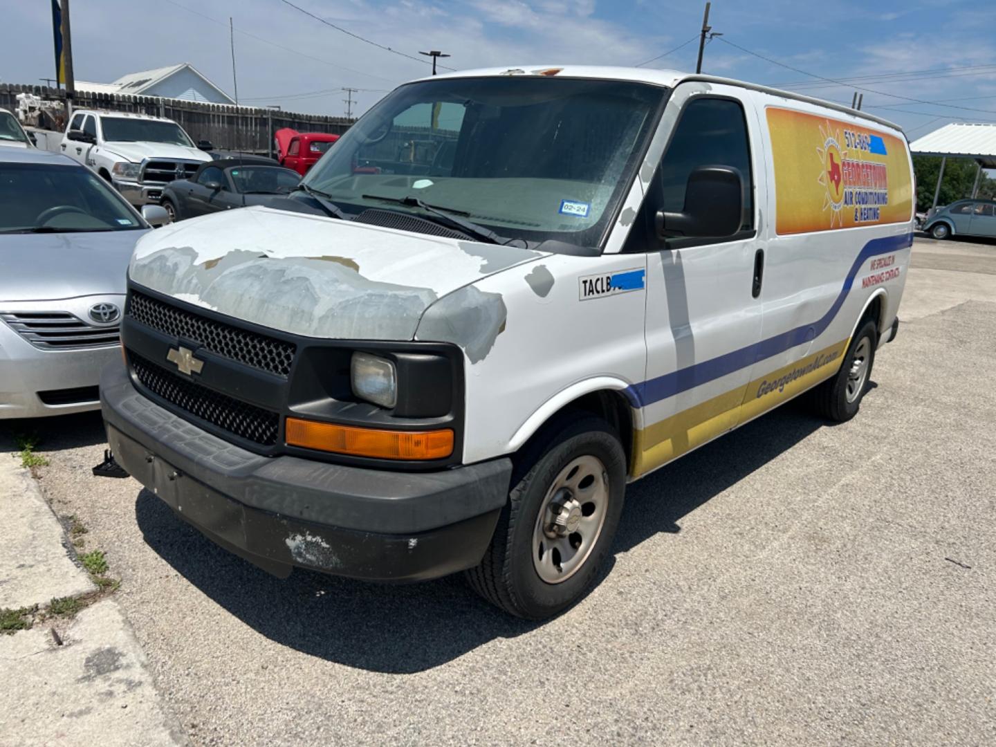
POLYGON ((285 378, 291 373, 295 353, 291 343, 215 322, 135 291, 131 292, 127 313, 135 322, 171 338, 197 343, 223 358, 285 378))

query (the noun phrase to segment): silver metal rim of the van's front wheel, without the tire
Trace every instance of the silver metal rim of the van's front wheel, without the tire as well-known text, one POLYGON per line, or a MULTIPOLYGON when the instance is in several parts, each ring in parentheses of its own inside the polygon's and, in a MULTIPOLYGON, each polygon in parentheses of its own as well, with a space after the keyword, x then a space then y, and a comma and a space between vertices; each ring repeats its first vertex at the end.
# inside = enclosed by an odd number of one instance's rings
POLYGON ((533 566, 547 584, 567 581, 602 534, 611 496, 609 473, 596 456, 579 456, 547 491, 533 530, 533 566))

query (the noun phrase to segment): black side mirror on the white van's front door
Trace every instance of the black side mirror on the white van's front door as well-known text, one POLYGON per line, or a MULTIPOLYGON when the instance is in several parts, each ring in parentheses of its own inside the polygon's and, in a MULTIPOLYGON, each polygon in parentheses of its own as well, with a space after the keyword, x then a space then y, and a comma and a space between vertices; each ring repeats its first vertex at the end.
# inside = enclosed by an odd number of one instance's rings
POLYGON ((740 230, 744 210, 744 180, 732 166, 699 166, 688 174, 684 209, 658 210, 654 216, 661 239, 725 238, 740 230))

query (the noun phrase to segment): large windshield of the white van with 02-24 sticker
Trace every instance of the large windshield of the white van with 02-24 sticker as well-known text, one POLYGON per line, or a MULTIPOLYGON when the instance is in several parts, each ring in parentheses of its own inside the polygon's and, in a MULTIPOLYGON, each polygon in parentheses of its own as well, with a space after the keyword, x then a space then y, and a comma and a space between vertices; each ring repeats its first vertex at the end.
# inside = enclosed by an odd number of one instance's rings
POLYGON ((506 237, 598 246, 666 90, 558 78, 441 79, 380 101, 305 182, 349 213, 465 216, 506 237))

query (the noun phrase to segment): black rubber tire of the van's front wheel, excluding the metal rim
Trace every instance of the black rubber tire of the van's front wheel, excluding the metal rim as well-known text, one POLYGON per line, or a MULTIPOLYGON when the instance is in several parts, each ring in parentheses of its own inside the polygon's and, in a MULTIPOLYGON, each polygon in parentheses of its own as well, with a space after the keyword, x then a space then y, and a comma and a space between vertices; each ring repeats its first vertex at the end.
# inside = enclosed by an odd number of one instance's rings
POLYGON ((560 420, 533 439, 512 476, 512 490, 481 564, 466 572, 471 588, 502 610, 527 620, 557 615, 580 600, 612 550, 622 515, 625 453, 605 420, 577 415, 560 420), (605 467, 605 519, 594 544, 566 580, 547 583, 533 561, 534 531, 558 475, 574 460, 594 456, 605 467))

